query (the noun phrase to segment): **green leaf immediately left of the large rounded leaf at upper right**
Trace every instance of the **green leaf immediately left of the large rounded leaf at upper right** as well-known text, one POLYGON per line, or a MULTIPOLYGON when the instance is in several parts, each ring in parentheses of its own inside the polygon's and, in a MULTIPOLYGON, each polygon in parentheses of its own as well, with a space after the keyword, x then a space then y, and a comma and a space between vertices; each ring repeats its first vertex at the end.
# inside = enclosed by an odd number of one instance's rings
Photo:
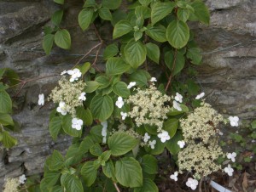
POLYGON ((157 42, 166 42, 166 27, 163 25, 148 26, 146 34, 157 42))

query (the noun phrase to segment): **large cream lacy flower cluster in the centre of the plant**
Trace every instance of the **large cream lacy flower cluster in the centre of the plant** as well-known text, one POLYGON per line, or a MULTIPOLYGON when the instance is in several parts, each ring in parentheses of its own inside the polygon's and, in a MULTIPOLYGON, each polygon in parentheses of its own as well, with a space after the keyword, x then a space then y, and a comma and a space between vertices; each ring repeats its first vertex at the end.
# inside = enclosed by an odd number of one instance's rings
MULTIPOLYGON (((169 96, 160 93, 154 85, 144 90, 137 88, 137 93, 126 100, 128 104, 131 104, 128 116, 134 119, 137 127, 156 126, 160 132, 163 121, 167 118, 166 113, 170 110, 170 107, 166 105, 170 100, 169 96)), ((119 100, 119 102, 121 101, 119 100)))

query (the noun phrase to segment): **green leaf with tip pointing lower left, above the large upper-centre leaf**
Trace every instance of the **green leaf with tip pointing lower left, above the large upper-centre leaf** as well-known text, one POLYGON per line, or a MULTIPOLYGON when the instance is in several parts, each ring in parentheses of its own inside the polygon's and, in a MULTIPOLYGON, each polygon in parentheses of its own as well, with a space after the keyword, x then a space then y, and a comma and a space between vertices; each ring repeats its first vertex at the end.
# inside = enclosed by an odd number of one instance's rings
POLYGON ((132 30, 131 23, 128 20, 120 20, 113 28, 113 39, 121 37, 132 30))

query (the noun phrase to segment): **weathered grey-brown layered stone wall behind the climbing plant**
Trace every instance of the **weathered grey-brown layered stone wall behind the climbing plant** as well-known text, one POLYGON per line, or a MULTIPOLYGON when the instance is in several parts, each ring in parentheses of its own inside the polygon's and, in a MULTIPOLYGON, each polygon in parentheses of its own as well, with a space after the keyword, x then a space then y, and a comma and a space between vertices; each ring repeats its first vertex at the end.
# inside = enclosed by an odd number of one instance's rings
MULTIPOLYGON (((77 23, 82 1, 69 0, 65 21, 77 23)), ((199 67, 198 81, 209 93, 208 101, 226 114, 245 119, 256 114, 256 2, 254 0, 208 0, 211 25, 195 25, 195 37, 204 51, 204 65, 199 67)), ((49 94, 65 69, 70 69, 81 55, 96 43, 94 31, 73 34, 71 51, 54 48, 45 56, 41 47, 42 27, 58 6, 51 0, 0 0, 0 67, 18 72, 21 79, 51 76, 27 82, 15 98, 15 120, 21 131, 15 134, 19 144, 0 151, 0 187, 4 177, 43 172, 45 157, 57 149, 65 151, 71 140, 61 137, 52 141, 48 131, 52 104, 39 108, 38 94, 49 94)), ((108 26, 100 29, 109 34, 108 26)), ((109 36, 104 36, 109 40, 109 36)), ((93 54, 93 53, 92 53, 93 54)), ((89 60, 92 57, 89 57, 89 60)))

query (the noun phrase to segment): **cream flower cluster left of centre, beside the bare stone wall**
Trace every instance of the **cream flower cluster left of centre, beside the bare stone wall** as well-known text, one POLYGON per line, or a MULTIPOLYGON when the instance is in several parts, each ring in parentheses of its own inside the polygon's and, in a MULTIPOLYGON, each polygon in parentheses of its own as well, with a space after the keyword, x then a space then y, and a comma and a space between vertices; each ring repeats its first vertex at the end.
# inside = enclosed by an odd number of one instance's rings
POLYGON ((85 85, 85 82, 69 82, 63 77, 59 81, 59 86, 50 93, 49 99, 52 99, 55 104, 59 104, 57 111, 62 116, 70 113, 73 117, 76 117, 75 108, 83 106, 83 101, 86 99, 83 91, 85 85))

